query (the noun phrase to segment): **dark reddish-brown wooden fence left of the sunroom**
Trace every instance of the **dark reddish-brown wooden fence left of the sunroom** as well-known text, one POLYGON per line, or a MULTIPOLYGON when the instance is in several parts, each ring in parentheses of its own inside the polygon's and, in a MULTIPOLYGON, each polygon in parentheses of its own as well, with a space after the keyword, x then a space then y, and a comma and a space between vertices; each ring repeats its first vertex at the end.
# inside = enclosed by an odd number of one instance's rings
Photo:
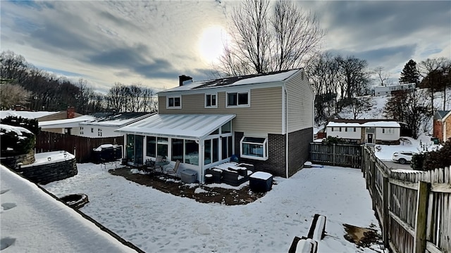
POLYGON ((41 131, 36 136, 36 153, 65 150, 75 155, 77 162, 91 162, 92 150, 102 144, 123 145, 123 136, 87 138, 41 131))

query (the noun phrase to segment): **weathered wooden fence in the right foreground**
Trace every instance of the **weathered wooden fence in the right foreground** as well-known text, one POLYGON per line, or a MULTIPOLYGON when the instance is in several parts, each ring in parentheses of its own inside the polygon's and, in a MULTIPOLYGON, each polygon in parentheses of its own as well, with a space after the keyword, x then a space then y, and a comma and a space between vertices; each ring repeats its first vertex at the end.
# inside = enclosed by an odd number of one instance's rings
POLYGON ((451 252, 450 167, 391 170, 365 147, 362 171, 385 247, 393 252, 451 252))

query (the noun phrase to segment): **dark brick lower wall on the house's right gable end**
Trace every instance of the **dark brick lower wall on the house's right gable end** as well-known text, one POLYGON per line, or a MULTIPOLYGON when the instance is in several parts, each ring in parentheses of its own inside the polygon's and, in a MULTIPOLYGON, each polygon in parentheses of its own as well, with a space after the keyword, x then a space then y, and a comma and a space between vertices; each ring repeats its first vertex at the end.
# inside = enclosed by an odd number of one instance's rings
POLYGON ((302 169, 309 160, 309 145, 313 141, 313 128, 302 129, 288 135, 288 176, 302 169))

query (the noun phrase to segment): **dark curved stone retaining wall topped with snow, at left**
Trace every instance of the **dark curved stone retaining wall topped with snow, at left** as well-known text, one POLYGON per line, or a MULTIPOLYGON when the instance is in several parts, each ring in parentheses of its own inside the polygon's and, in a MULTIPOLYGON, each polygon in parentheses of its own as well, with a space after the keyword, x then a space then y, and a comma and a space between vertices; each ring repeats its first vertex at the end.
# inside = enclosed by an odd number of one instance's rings
POLYGON ((75 158, 63 162, 13 168, 34 183, 50 183, 78 174, 75 158))

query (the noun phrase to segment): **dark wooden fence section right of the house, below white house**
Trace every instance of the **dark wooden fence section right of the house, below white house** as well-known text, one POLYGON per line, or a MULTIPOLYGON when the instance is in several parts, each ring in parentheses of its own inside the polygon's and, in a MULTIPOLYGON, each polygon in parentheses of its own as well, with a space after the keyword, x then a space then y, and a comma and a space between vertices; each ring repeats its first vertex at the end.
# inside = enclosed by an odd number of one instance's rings
POLYGON ((310 143, 310 161, 341 167, 362 167, 362 145, 310 143))

